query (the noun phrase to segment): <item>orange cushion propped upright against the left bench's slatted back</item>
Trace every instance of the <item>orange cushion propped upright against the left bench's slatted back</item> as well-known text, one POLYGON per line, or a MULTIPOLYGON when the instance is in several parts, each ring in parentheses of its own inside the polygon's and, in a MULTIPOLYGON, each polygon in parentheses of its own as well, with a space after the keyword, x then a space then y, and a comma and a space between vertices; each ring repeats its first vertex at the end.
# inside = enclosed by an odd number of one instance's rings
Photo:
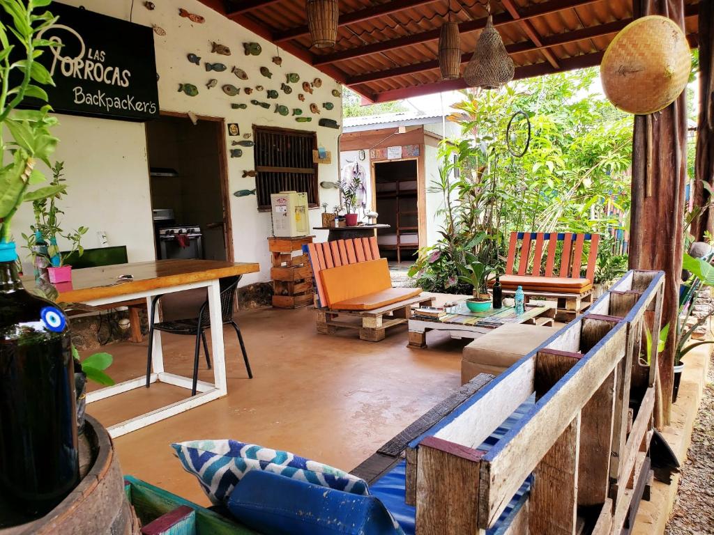
MULTIPOLYGON (((328 307, 392 287, 386 258, 367 260, 321 270, 320 277, 328 307)), ((375 307, 376 308, 376 307, 375 307)))

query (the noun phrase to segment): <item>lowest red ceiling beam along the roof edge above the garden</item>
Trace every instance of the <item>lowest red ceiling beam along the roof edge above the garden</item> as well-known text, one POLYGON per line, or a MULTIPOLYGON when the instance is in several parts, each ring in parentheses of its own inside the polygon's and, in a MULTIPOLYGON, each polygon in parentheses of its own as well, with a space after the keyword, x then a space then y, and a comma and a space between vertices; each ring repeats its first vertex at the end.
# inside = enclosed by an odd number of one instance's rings
MULTIPOLYGON (((553 74, 562 71, 572 71, 575 68, 594 67, 600 64, 600 61, 602 61, 604 54, 605 52, 593 52, 591 54, 583 54, 581 56, 565 58, 563 60, 560 60, 557 69, 553 68, 553 66, 550 65, 550 63, 548 63, 547 61, 543 61, 541 63, 534 63, 533 65, 516 67, 516 73, 514 74, 513 79, 520 80, 521 78, 533 78, 534 76, 544 76, 545 74, 553 74)), ((468 88, 466 81, 464 81, 463 78, 458 78, 458 80, 425 83, 421 86, 382 91, 381 93, 375 93, 372 98, 372 101, 376 103, 397 101, 403 98, 431 95, 432 93, 441 93, 443 91, 458 91, 459 89, 466 88, 468 88)))

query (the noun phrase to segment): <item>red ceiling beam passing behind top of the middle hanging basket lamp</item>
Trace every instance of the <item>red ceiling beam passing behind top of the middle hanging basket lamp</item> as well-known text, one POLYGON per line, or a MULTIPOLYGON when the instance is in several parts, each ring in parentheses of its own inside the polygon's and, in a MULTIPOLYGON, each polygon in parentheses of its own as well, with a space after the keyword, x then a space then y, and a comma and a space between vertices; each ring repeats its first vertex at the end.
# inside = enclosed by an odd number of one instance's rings
MULTIPOLYGON (((549 13, 555 13, 558 11, 563 11, 563 9, 573 9, 574 7, 584 6, 585 4, 593 4, 595 1, 599 0, 550 0, 545 1, 540 4, 533 4, 528 9, 523 9, 521 11, 521 21, 526 21, 528 19, 534 19, 538 16, 543 16, 549 13)), ((493 16, 493 26, 502 26, 503 24, 513 24, 516 22, 513 16, 508 13, 508 11, 503 11, 493 16)), ((458 24, 458 31, 460 34, 466 34, 471 31, 481 30, 486 26, 486 18, 476 19, 473 21, 460 22, 458 24)), ((336 63, 338 61, 345 61, 348 59, 359 58, 362 56, 369 56, 371 54, 378 54, 379 52, 386 52, 393 49, 399 49, 403 46, 411 46, 414 44, 426 43, 428 41, 436 41, 439 39, 439 33, 441 29, 433 29, 428 31, 422 31, 418 34, 412 34, 408 36, 398 37, 396 39, 388 39, 387 41, 379 41, 378 43, 372 43, 363 46, 356 46, 352 49, 347 49, 339 52, 332 52, 330 54, 323 54, 321 56, 316 56, 313 62, 314 66, 327 65, 328 63, 336 63)))

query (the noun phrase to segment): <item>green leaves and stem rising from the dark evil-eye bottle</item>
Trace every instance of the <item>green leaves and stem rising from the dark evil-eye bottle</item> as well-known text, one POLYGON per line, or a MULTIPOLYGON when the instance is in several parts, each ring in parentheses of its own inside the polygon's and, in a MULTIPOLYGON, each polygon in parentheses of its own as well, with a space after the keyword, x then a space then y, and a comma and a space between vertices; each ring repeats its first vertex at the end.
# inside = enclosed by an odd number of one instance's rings
POLYGON ((31 190, 45 177, 36 163, 48 167, 57 138, 51 128, 57 120, 49 116, 50 107, 39 110, 16 109, 26 97, 47 101, 41 85, 54 85, 49 71, 38 63, 47 47, 54 46, 39 34, 55 23, 49 11, 35 14, 50 0, 1 0, 0 7, 12 26, 0 23, 0 240, 11 241, 10 223, 21 203, 51 197, 64 191, 64 185, 48 185, 31 190), (12 56, 12 58, 11 58, 12 56), (19 80, 18 85, 14 81, 19 80), (38 85, 39 84, 39 85, 38 85), (8 136, 9 134, 9 136, 8 136), (10 162, 5 164, 6 153, 10 162))

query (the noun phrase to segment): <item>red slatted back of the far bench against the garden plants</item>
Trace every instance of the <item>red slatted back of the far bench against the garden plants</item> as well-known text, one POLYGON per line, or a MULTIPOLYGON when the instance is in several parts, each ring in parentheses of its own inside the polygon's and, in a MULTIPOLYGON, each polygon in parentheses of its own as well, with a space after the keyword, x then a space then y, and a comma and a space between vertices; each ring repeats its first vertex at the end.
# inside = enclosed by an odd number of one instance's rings
POLYGON ((511 233, 508 243, 508 260, 506 260, 506 275, 537 275, 545 277, 580 278, 580 264, 583 258, 583 244, 590 242, 588 268, 585 278, 593 282, 595 276, 595 261, 598 258, 599 234, 575 233, 511 233), (521 243, 518 243, 518 240, 521 243), (563 242, 563 255, 560 266, 555 265, 555 248, 558 242, 563 242), (547 242, 547 243, 546 243, 547 242), (533 250, 533 262, 529 263, 533 250), (545 272, 541 271, 543 255, 545 257, 545 272), (516 268, 516 263, 518 268, 516 268))

